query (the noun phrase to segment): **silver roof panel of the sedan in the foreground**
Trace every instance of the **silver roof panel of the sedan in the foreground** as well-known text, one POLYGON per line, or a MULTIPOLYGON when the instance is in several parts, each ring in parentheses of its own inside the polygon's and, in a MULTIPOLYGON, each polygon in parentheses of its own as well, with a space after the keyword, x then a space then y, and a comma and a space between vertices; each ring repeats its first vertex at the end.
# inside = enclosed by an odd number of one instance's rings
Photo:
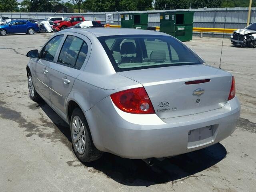
POLYGON ((86 34, 88 32, 94 34, 96 37, 115 36, 115 35, 163 35, 169 36, 166 33, 153 30, 130 29, 130 28, 76 28, 68 29, 65 32, 77 32, 86 34))

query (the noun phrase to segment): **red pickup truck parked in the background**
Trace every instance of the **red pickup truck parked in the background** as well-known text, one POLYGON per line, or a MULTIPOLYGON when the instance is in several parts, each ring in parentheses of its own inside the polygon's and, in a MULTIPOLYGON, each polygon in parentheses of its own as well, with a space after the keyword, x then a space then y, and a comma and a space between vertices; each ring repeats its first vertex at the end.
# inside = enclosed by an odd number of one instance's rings
POLYGON ((72 16, 67 17, 64 19, 64 21, 54 21, 52 29, 56 32, 66 29, 68 27, 74 26, 77 23, 83 22, 84 17, 83 16, 72 16))

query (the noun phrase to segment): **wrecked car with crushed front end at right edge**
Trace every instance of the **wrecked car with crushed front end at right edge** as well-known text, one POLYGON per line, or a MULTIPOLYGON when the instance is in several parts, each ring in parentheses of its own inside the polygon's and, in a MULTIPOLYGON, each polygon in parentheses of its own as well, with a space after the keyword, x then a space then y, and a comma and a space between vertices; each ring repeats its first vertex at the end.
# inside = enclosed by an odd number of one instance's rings
POLYGON ((230 40, 234 46, 256 48, 256 23, 234 31, 230 40))

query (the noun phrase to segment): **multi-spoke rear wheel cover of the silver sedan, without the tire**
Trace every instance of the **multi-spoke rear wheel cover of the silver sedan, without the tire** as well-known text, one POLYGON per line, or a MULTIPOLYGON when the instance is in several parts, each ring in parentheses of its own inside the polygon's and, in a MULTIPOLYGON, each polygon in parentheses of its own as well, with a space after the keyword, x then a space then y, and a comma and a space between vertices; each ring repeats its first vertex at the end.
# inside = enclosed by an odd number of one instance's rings
POLYGON ((79 154, 83 154, 85 150, 85 131, 84 124, 79 116, 74 116, 72 121, 72 137, 74 146, 79 154))

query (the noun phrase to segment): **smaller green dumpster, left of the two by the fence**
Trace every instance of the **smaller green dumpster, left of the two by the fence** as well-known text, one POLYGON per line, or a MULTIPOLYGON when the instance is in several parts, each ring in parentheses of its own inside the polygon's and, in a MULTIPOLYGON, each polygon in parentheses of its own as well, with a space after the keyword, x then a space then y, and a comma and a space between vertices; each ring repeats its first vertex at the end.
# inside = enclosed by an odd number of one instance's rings
POLYGON ((147 29, 148 14, 147 13, 126 13, 121 14, 122 28, 147 29))

